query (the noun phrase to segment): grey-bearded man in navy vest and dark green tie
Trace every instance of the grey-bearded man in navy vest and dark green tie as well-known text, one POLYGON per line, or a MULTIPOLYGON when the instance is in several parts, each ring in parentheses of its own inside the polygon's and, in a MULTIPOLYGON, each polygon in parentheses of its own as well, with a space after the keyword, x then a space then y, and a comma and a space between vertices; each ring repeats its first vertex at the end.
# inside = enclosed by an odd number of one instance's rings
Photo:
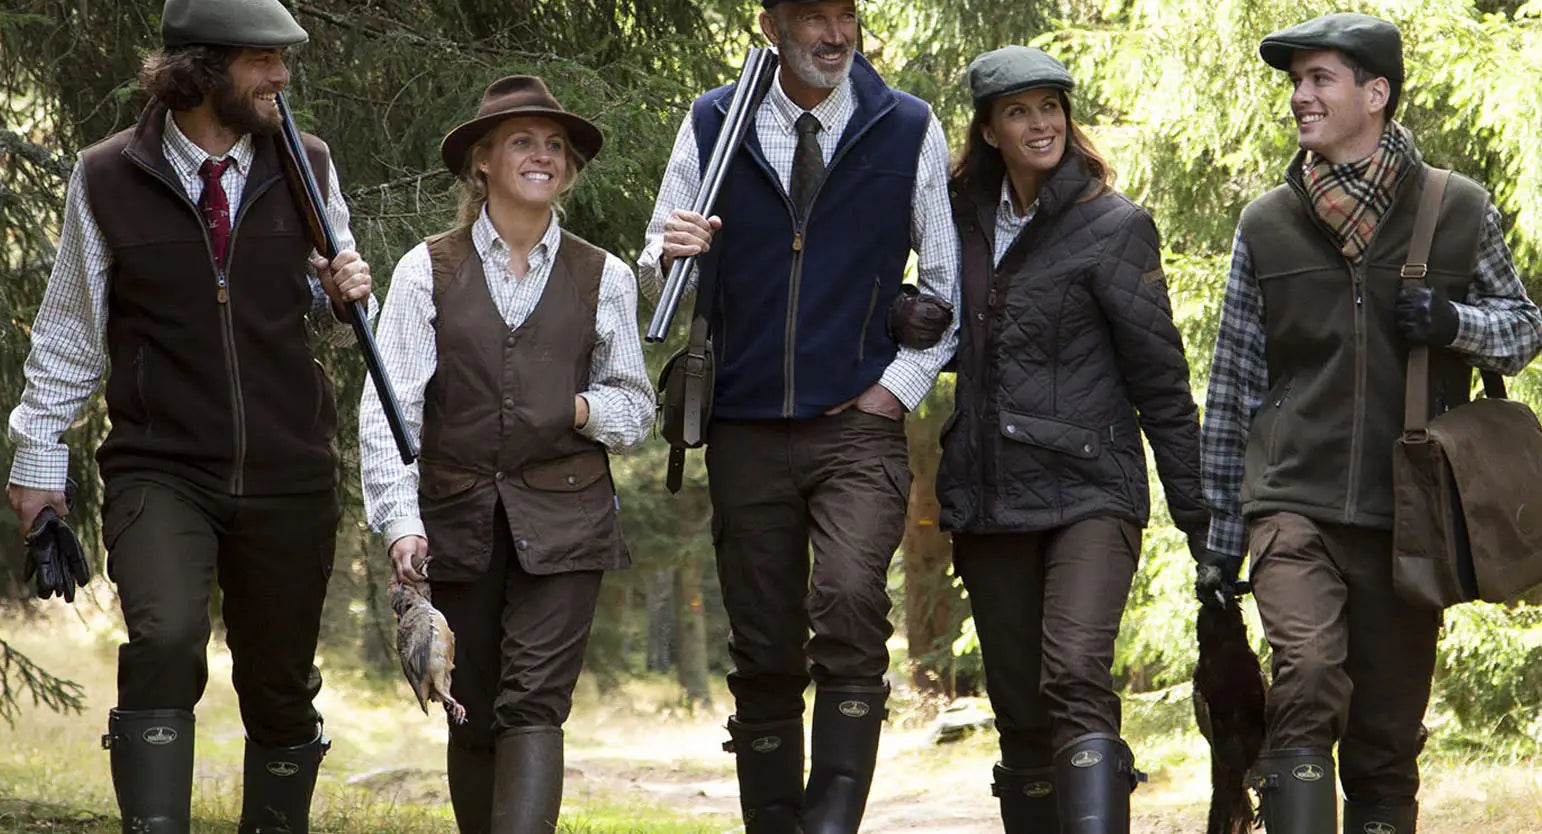
POLYGON ((731 86, 697 99, 680 126, 640 282, 657 296, 675 257, 711 244, 699 262, 715 279, 699 304, 717 358, 706 469, 745 829, 853 834, 888 697, 885 580, 911 478, 904 418, 958 342, 947 327, 931 347, 905 347, 888 313, 904 304, 911 250, 921 291, 956 301, 958 234, 942 126, 856 52, 856 3, 762 5, 780 68, 719 213, 686 208, 731 86))

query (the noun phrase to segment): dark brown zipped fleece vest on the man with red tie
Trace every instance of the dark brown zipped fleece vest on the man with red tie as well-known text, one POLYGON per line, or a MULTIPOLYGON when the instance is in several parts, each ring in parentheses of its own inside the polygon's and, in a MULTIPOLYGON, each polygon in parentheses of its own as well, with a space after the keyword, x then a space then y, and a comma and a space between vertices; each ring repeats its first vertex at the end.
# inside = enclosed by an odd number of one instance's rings
MULTIPOLYGON (((136 126, 80 156, 113 251, 102 473, 170 472, 230 495, 328 490, 336 413, 305 328, 311 245, 276 137, 253 136, 221 276, 204 217, 162 150, 165 116, 151 103, 136 126)), ((302 140, 311 168, 327 171, 327 146, 302 140)))

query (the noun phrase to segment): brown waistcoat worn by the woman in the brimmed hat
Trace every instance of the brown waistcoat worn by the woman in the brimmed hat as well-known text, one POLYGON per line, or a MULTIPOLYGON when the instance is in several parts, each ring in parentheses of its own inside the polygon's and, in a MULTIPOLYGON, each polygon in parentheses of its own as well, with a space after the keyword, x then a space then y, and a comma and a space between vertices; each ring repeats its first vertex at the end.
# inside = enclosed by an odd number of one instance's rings
POLYGON ((424 390, 418 512, 438 581, 487 570, 503 503, 530 573, 626 567, 604 446, 574 430, 589 387, 604 250, 563 233, 546 290, 510 330, 470 227, 429 237, 438 364, 424 390))

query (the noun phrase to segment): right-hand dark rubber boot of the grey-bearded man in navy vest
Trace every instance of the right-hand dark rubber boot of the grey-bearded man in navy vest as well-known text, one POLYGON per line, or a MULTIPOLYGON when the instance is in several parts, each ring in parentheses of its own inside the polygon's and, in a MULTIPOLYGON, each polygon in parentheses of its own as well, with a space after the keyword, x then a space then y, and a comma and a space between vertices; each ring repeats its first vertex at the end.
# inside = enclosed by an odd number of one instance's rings
POLYGON ((803 794, 803 834, 856 834, 873 788, 888 686, 820 686, 803 794))

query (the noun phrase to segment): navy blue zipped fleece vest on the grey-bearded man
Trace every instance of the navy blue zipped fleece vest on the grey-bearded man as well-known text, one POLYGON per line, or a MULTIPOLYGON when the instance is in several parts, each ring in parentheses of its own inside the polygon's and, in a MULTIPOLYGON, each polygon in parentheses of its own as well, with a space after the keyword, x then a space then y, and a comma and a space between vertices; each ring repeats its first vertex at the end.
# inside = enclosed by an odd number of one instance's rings
MULTIPOLYGON (((728 166, 715 213, 723 228, 702 270, 715 270, 712 416, 813 418, 877 382, 894 359, 885 328, 910 256, 925 102, 890 89, 860 55, 856 113, 806 220, 751 125, 728 166)), ((732 85, 691 108, 702 165, 722 131, 732 85)))

